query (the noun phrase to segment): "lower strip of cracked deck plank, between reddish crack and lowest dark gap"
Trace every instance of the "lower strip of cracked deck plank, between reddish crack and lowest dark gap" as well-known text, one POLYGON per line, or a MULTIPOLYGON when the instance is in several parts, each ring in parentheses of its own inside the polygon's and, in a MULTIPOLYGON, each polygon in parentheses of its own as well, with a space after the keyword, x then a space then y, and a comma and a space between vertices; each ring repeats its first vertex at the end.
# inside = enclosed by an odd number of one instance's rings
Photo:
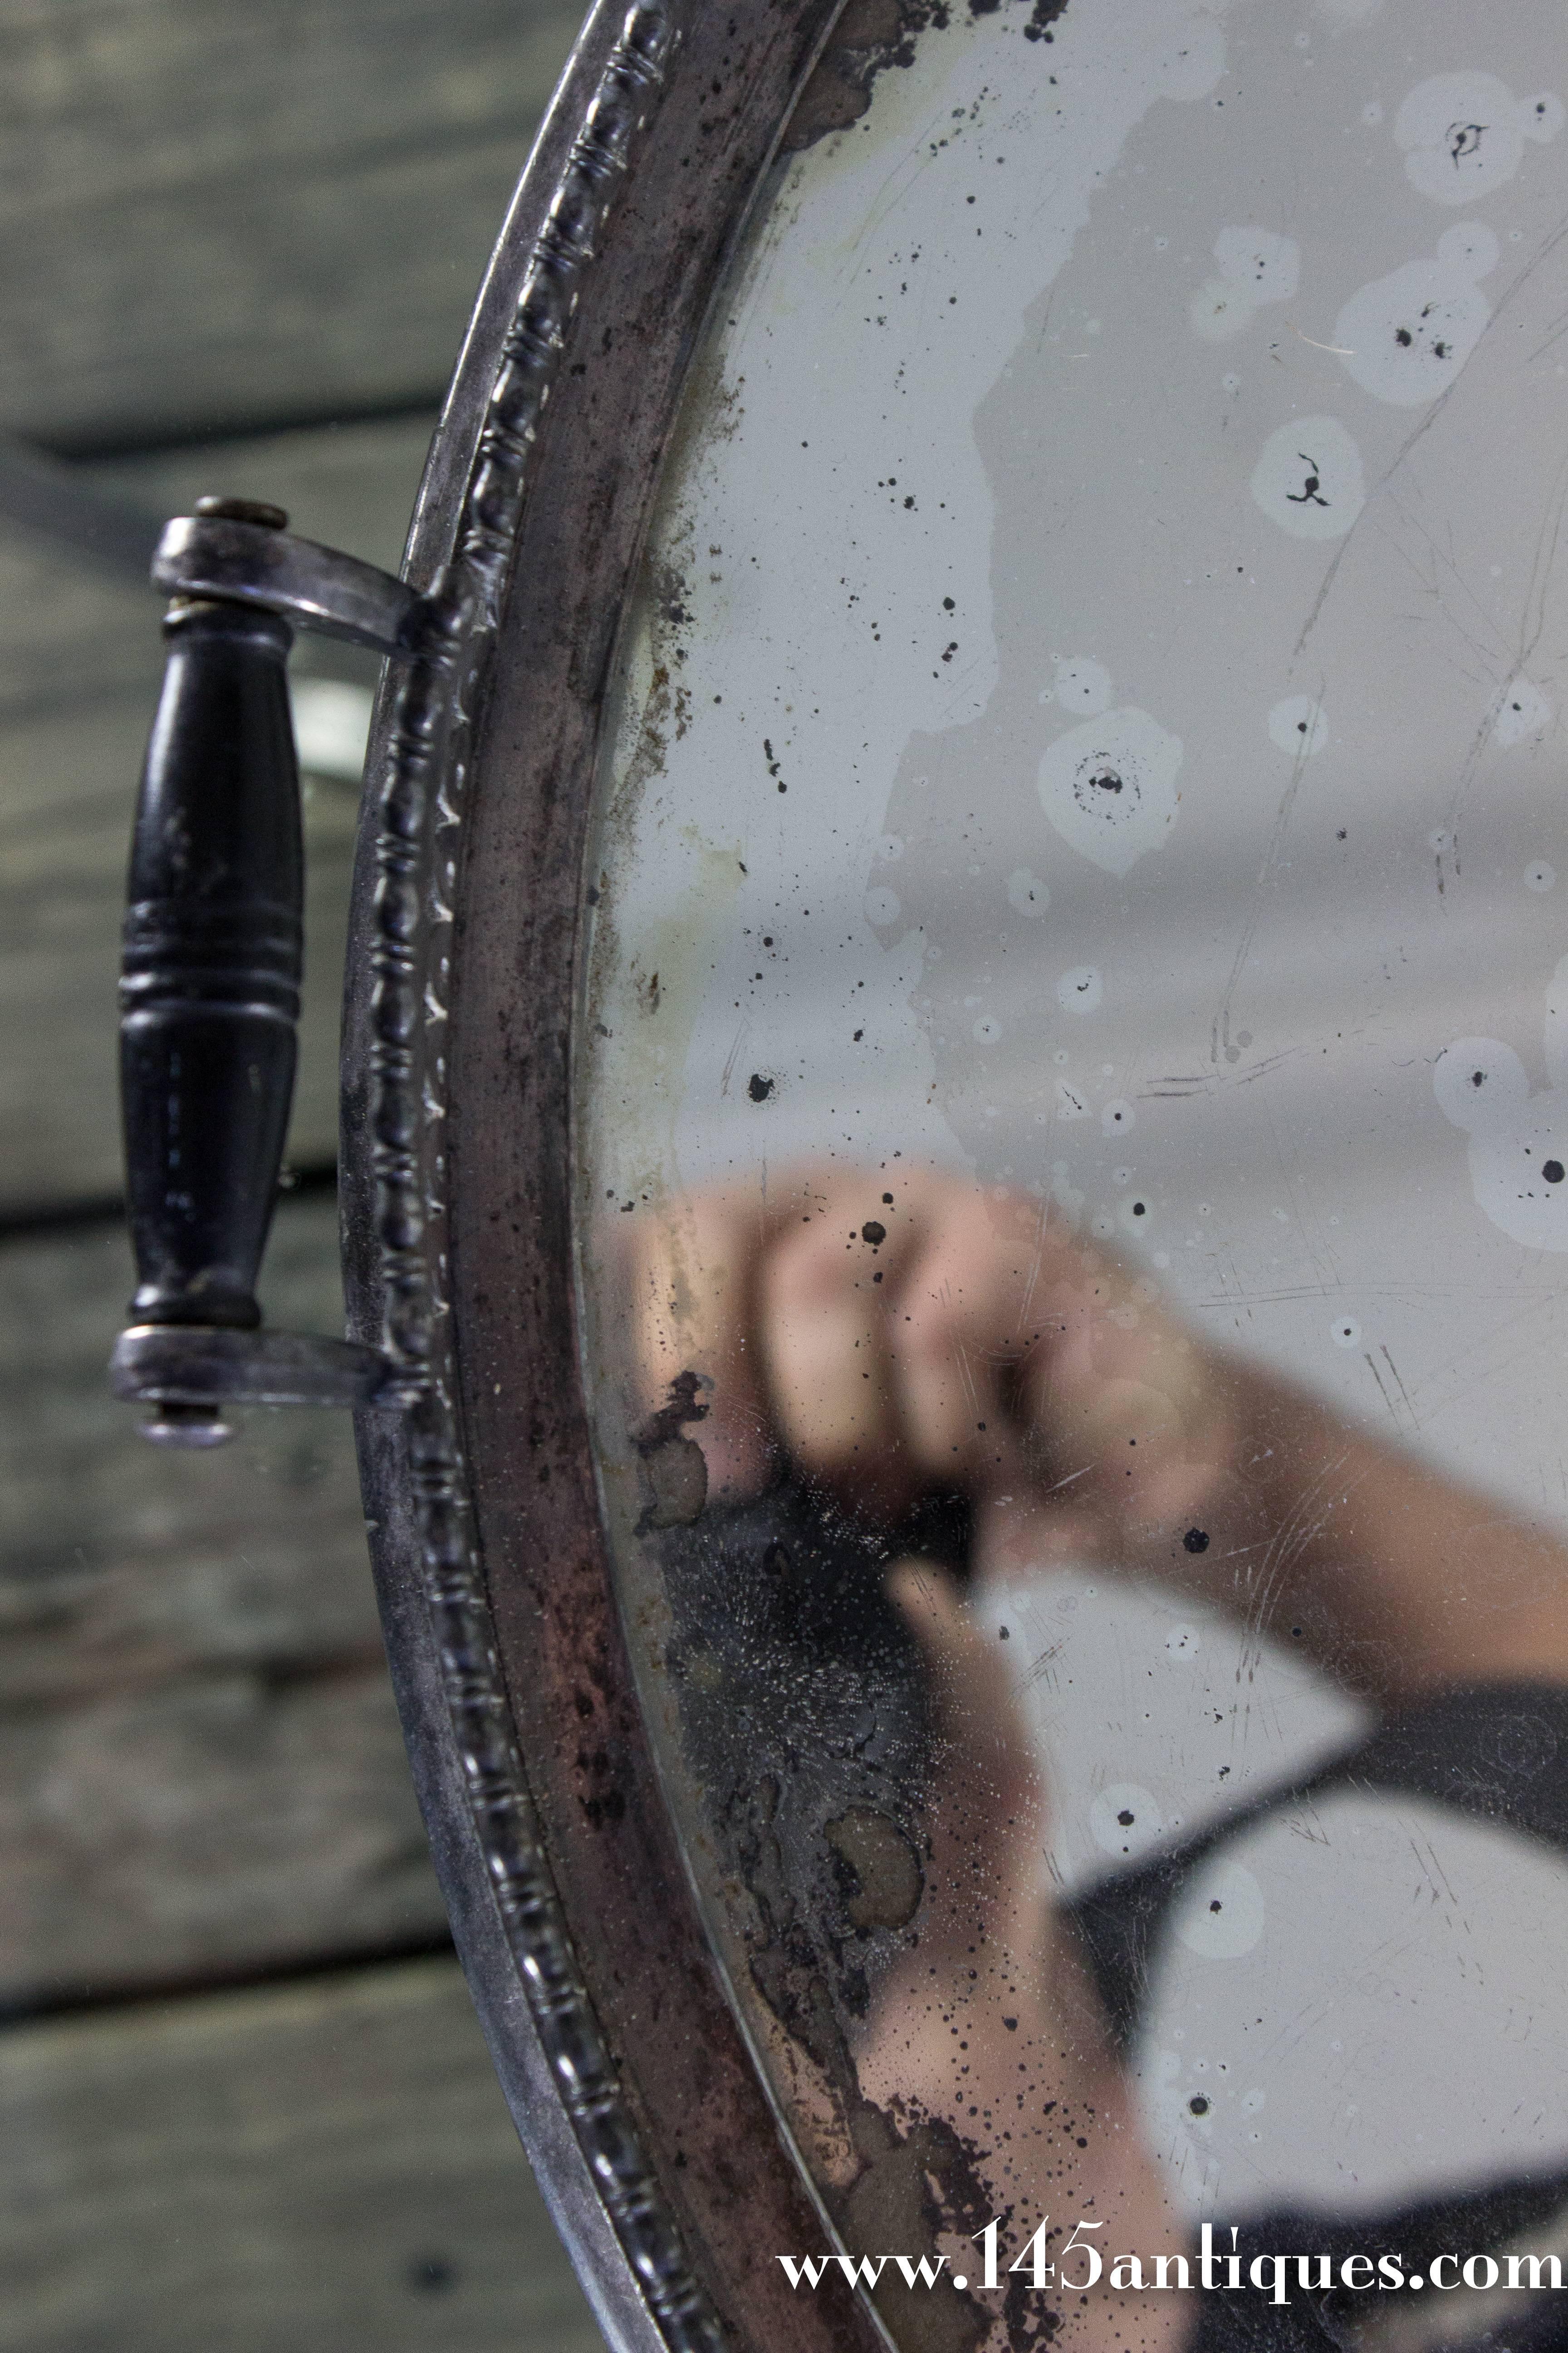
POLYGON ((0 1727, 14 2009, 444 1929, 386 1673, 190 1675, 0 1727))

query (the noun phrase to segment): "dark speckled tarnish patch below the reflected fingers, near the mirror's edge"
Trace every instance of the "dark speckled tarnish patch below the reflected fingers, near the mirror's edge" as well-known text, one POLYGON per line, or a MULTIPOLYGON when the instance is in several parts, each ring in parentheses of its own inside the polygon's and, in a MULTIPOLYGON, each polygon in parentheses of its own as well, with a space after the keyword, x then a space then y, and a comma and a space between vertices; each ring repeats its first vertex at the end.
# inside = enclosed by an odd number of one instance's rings
MULTIPOLYGON (((670 1400, 654 1442, 696 1417, 696 1377, 670 1400)), ((884 1593, 905 1553, 966 1567, 964 1501, 933 1497, 889 1529, 783 1482, 658 1539, 684 1760, 719 1868, 750 1897, 748 1974, 849 2134, 856 2172, 827 2195, 832 2219, 877 2252, 933 2249, 992 2214, 983 2153, 912 2104, 865 2099, 851 2052, 919 1911, 940 1772, 922 1659, 884 1593)), ((884 2273, 872 2301, 903 2353, 976 2353, 990 2329, 969 2289, 884 2273)))

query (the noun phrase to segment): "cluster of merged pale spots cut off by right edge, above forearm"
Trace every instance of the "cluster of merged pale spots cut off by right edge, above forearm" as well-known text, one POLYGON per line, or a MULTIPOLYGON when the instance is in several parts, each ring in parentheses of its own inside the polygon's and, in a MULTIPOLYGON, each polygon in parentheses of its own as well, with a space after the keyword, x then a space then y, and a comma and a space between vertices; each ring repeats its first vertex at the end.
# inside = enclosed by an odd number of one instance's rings
POLYGON ((1547 988, 1549 1085, 1530 1080, 1512 1045, 1455 1038, 1432 1068, 1432 1092, 1469 1134, 1476 1207, 1526 1249, 1568 1249, 1568 955, 1547 988))

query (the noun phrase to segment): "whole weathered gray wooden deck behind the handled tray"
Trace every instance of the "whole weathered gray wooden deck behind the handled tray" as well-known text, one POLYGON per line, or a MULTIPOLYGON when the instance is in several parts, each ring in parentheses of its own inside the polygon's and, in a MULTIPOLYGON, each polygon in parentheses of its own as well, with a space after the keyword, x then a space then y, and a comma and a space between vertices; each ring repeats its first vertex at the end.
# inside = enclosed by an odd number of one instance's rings
MULTIPOLYGON (((346 1424, 249 1414, 172 1459, 103 1386, 129 1257, 71 1219, 120 1188, 160 607, 5 478, 7 447, 24 489, 63 456, 153 518, 249 492, 395 567, 576 16, 0 21, 0 2353, 599 2341, 440 1958, 346 1424)), ((313 647, 296 671, 374 678, 313 647)), ((353 821, 353 784, 313 774, 289 1153, 317 1169, 353 821)), ((327 1193, 280 1207, 263 1301, 341 1329, 327 1193)))

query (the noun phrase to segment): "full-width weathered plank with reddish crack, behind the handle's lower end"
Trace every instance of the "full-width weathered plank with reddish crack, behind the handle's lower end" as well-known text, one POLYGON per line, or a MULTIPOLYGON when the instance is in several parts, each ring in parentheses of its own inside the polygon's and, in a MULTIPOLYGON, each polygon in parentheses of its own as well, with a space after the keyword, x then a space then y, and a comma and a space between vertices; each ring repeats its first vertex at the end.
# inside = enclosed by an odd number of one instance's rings
MULTIPOLYGON (((331 1200, 280 1325, 341 1329, 331 1200)), ((103 1384, 125 1242, 0 1249, 0 2002, 440 1937, 346 1417, 169 1457, 103 1384)))

